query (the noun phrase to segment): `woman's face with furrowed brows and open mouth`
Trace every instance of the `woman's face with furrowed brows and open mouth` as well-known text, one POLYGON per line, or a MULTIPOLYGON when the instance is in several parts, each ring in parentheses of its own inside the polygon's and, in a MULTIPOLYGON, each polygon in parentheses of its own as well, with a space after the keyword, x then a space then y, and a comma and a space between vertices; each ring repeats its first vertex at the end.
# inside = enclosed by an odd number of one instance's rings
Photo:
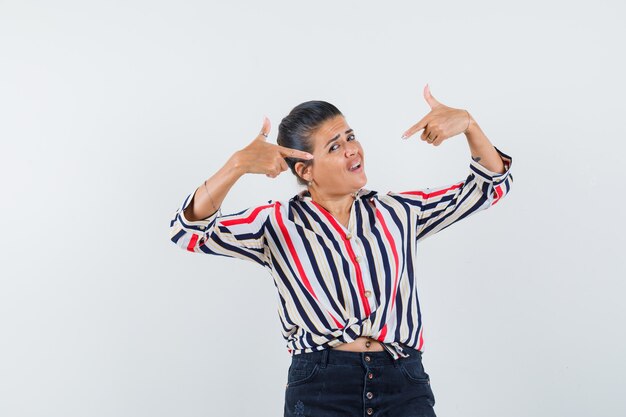
POLYGON ((313 164, 301 176, 326 194, 353 193, 367 183, 363 148, 346 119, 339 115, 323 122, 312 135, 313 164))

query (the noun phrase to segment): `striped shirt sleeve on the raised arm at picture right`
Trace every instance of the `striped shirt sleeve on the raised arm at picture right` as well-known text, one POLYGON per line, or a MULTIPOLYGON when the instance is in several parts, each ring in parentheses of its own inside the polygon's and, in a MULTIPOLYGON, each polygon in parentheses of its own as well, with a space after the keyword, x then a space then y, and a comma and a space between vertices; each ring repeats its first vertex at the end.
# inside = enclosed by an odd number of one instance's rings
POLYGON ((504 162, 505 172, 492 172, 471 159, 470 172, 463 181, 443 187, 426 188, 389 196, 406 204, 409 212, 416 216, 416 238, 418 241, 431 236, 455 222, 498 203, 511 190, 512 158, 496 151, 504 162))

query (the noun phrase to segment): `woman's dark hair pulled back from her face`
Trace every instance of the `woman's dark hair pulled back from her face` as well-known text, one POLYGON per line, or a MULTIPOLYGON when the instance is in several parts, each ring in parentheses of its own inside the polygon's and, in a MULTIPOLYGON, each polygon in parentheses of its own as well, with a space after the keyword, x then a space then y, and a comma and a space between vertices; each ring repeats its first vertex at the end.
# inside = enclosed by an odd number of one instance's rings
MULTIPOLYGON (((337 107, 326 101, 312 100, 298 104, 280 122, 276 142, 280 146, 311 153, 313 133, 323 122, 335 116, 343 116, 343 114, 337 107)), ((285 161, 291 168, 291 172, 298 178, 298 183, 306 185, 307 182, 296 172, 295 165, 296 162, 304 162, 305 166, 308 166, 313 163, 313 160, 287 157, 285 161)))

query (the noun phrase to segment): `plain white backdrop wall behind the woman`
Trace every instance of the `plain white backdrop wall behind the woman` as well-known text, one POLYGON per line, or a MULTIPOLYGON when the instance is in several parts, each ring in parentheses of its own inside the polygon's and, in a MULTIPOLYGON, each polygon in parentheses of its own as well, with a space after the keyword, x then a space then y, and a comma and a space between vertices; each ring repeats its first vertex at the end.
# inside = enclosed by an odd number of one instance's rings
MULTIPOLYGON (((625 415, 624 6, 586 3, 0 0, 0 415, 282 415, 271 276, 170 218, 314 99, 366 188, 465 178, 462 135, 400 139, 426 83, 514 176, 420 249, 437 414, 625 415)), ((298 190, 245 176, 223 211, 298 190)))

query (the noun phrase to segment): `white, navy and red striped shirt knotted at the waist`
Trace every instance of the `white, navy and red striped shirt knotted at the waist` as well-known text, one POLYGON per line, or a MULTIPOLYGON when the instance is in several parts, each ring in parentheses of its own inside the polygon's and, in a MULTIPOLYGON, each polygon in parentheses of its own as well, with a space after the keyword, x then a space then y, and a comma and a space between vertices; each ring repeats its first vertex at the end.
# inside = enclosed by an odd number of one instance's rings
POLYGON ((512 159, 496 148, 502 174, 470 160, 463 181, 378 193, 360 189, 348 227, 302 191, 233 214, 185 219, 189 194, 170 222, 170 238, 190 252, 255 262, 278 290, 290 355, 369 336, 394 358, 400 344, 423 350, 416 281, 417 243, 499 202, 511 189, 512 159))

